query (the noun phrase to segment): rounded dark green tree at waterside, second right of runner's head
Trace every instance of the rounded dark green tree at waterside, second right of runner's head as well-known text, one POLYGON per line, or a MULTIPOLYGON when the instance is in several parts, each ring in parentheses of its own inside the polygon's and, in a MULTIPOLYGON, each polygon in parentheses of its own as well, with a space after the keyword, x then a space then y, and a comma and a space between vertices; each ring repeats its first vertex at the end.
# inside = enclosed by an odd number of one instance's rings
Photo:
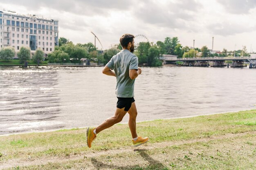
POLYGON ((148 49, 148 66, 159 66, 162 62, 159 60, 160 51, 157 46, 151 46, 148 49))

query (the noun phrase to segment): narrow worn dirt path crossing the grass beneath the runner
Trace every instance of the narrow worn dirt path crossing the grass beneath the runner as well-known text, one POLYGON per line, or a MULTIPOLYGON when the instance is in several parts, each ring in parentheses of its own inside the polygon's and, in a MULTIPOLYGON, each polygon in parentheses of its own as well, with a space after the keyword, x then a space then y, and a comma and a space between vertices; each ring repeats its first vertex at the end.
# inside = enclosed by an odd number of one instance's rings
POLYGON ((206 137, 206 138, 200 138, 200 139, 191 139, 191 140, 182 140, 182 141, 174 141, 174 142, 161 142, 161 143, 154 143, 150 144, 150 141, 142 146, 139 147, 129 147, 126 146, 122 149, 111 149, 106 151, 94 151, 90 153, 84 153, 82 155, 71 155, 70 157, 42 157, 40 159, 11 159, 8 160, 2 164, 0 164, 0 169, 3 168, 12 168, 16 166, 32 166, 32 165, 42 165, 47 164, 49 162, 65 162, 65 161, 72 161, 72 160, 79 160, 84 158, 93 158, 93 157, 99 157, 101 155, 110 155, 110 154, 120 154, 120 153, 128 153, 128 152, 134 152, 136 149, 146 149, 151 150, 155 148, 165 148, 166 146, 173 146, 173 145, 181 145, 181 144, 191 144, 195 142, 209 142, 211 140, 216 139, 228 139, 228 138, 234 138, 234 137, 243 137, 247 134, 250 135, 256 135, 256 131, 250 131, 246 133, 228 133, 226 135, 219 135, 219 136, 212 136, 212 137, 206 137))

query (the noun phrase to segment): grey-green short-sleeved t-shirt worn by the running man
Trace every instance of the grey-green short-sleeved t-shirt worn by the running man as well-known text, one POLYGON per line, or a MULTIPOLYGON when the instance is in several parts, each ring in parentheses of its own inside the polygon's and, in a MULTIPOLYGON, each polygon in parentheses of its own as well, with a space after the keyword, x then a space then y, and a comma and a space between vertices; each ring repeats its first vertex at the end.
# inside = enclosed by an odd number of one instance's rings
POLYGON ((113 69, 117 78, 116 96, 123 98, 134 97, 135 79, 129 76, 129 70, 138 70, 138 57, 129 50, 121 50, 106 64, 113 69))

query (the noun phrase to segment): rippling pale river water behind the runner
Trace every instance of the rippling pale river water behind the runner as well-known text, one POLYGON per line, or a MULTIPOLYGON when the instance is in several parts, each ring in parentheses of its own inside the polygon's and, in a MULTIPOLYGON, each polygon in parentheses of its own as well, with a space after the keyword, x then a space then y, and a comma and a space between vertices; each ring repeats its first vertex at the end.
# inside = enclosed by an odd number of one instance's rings
MULTIPOLYGON (((116 79, 102 69, 0 66, 0 134, 95 126, 112 116, 116 79)), ((135 100, 137 121, 253 109, 256 70, 144 67, 135 100)))

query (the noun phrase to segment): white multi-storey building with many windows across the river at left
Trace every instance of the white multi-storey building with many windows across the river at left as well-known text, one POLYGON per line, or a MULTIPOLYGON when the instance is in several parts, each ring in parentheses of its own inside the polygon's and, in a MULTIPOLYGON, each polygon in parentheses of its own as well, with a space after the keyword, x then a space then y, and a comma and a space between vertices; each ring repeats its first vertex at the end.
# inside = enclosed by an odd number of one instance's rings
POLYGON ((0 49, 11 46, 16 52, 22 46, 34 54, 40 48, 47 55, 58 46, 58 20, 22 15, 0 10, 0 49))

